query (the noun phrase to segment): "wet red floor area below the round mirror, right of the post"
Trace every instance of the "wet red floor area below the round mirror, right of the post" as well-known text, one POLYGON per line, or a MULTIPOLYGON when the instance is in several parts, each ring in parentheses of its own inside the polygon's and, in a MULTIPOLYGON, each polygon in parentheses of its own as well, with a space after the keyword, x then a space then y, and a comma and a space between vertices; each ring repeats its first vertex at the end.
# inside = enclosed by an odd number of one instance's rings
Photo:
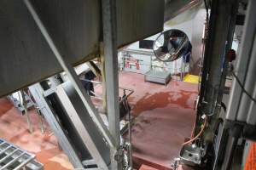
POLYGON ((144 82, 140 74, 121 72, 119 86, 135 90, 129 99, 132 115, 137 116, 131 131, 135 167, 172 169, 195 122, 197 85, 171 81, 165 86, 144 82))

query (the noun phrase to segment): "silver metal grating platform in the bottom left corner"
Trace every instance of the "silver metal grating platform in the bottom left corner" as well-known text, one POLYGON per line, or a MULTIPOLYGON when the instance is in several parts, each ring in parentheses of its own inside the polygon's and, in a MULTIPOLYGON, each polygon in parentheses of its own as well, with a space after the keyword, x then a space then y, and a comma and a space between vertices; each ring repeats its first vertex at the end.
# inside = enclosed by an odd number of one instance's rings
POLYGON ((0 139, 0 170, 10 169, 43 170, 44 166, 38 161, 35 161, 35 155, 0 139))

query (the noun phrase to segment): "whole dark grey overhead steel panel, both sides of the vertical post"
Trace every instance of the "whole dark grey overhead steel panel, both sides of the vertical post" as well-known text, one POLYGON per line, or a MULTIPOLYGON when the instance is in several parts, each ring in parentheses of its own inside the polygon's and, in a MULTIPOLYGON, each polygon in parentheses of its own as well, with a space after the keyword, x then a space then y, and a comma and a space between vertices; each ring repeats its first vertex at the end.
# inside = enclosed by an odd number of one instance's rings
MULTIPOLYGON (((102 35, 100 0, 32 0, 61 54, 91 59, 102 35)), ((119 48, 162 30, 164 0, 117 0, 119 48)), ((22 0, 0 1, 0 96, 61 71, 22 0)))

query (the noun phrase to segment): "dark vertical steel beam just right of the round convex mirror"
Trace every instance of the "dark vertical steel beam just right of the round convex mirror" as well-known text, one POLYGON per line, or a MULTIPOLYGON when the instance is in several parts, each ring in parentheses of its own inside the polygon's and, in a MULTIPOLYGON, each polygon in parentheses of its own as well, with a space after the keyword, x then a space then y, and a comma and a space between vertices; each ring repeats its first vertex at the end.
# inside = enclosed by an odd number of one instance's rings
POLYGON ((212 1, 206 59, 201 87, 201 104, 207 115, 216 113, 216 106, 223 72, 224 55, 230 32, 230 20, 236 0, 212 1), (206 105, 204 105, 205 103, 206 105))

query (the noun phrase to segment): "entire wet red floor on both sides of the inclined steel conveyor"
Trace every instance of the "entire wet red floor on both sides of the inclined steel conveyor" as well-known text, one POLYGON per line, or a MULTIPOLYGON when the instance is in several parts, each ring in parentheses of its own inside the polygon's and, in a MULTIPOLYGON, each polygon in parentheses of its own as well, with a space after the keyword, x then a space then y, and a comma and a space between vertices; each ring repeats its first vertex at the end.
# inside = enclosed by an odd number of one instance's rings
MULTIPOLYGON (((129 98, 132 115, 136 117, 132 127, 135 167, 145 164, 153 169, 171 169, 173 158, 178 156, 193 127, 197 85, 171 81, 164 86, 144 82, 141 74, 120 72, 119 86, 135 90, 129 98)), ((44 122, 46 132, 42 134, 35 111, 29 114, 32 134, 27 130, 26 116, 21 116, 7 99, 0 99, 0 138, 36 154, 45 170, 73 169, 47 123, 44 122)))

